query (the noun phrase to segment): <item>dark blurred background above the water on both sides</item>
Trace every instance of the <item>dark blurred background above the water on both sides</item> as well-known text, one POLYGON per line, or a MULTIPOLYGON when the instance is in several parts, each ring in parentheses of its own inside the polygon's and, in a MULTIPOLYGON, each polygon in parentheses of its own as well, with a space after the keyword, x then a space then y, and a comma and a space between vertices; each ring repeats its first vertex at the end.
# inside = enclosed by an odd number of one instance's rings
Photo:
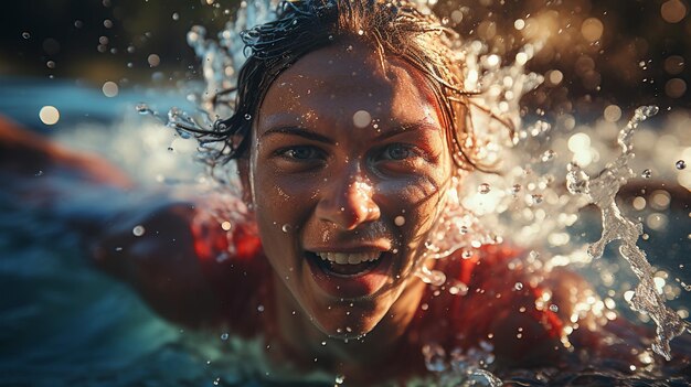
MULTIPOLYGON (((525 98, 546 112, 596 117, 657 104, 691 107, 688 0, 435 1, 449 25, 499 55, 545 40, 529 62, 544 85, 525 98), (616 110, 614 111, 616 112, 616 110)), ((195 78, 192 25, 213 34, 236 12, 227 0, 28 0, 3 4, 0 76, 76 79, 106 95, 195 78)))

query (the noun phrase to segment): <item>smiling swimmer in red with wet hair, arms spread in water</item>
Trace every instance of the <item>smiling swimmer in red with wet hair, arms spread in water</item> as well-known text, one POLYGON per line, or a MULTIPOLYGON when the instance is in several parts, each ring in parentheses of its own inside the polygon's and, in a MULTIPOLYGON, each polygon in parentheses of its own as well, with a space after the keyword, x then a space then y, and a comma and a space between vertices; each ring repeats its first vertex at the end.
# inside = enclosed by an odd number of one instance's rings
MULTIPOLYGON (((472 146, 453 34, 404 1, 283 10, 244 35, 235 114, 198 133, 238 166, 249 217, 232 238, 204 222, 204 203, 139 201, 114 166, 7 122, 2 173, 42 169, 104 200, 132 196, 75 219, 94 262, 167 319, 261 337, 276 364, 358 386, 423 376, 430 348, 490 348, 500 368, 640 363, 646 334, 584 308, 597 295, 577 275, 509 265, 527 255, 509 245, 427 258, 451 181, 488 168, 472 146), (423 282, 423 267, 446 282, 423 282)), ((43 206, 75 200, 60 187, 12 190, 43 206)))

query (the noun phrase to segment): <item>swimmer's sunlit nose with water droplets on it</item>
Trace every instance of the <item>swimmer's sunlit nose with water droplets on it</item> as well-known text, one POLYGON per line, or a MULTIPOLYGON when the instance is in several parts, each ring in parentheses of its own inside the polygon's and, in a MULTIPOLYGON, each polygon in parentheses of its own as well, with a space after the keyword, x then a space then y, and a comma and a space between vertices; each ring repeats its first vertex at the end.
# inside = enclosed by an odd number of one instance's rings
POLYGON ((343 179, 331 176, 328 183, 317 204, 317 217, 346 230, 380 218, 381 212, 373 198, 372 184, 360 170, 348 173, 343 179))

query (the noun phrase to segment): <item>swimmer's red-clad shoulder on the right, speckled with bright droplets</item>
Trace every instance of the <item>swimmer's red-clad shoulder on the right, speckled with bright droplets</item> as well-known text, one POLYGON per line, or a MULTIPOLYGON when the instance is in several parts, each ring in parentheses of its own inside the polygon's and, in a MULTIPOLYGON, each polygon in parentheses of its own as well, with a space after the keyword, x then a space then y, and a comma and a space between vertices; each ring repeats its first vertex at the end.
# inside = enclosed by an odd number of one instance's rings
POLYGON ((443 265, 447 286, 465 287, 446 301, 455 345, 489 345, 498 362, 530 366, 567 352, 574 326, 596 324, 584 308, 597 299, 587 281, 568 270, 544 270, 532 259, 508 245, 483 246, 467 259, 449 257, 443 265))

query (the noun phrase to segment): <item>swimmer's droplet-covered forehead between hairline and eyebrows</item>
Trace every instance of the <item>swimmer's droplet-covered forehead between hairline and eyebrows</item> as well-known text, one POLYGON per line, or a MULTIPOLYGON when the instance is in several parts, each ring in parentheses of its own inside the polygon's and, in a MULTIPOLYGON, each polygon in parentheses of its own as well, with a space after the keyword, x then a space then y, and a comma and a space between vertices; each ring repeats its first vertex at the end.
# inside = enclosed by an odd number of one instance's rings
POLYGON ((270 85, 259 130, 285 121, 352 126, 366 111, 382 123, 439 123, 439 108, 421 71, 360 42, 341 42, 298 60, 270 85))

